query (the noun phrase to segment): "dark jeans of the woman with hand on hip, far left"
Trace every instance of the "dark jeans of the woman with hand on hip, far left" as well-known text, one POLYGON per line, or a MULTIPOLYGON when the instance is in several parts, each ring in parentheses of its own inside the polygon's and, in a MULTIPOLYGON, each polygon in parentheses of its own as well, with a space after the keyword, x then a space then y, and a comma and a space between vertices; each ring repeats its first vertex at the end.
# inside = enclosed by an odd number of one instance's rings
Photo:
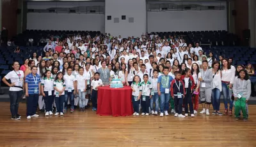
POLYGON ((23 94, 23 90, 9 91, 10 110, 11 110, 12 116, 16 116, 18 114, 19 102, 21 100, 21 95, 22 94, 23 94))

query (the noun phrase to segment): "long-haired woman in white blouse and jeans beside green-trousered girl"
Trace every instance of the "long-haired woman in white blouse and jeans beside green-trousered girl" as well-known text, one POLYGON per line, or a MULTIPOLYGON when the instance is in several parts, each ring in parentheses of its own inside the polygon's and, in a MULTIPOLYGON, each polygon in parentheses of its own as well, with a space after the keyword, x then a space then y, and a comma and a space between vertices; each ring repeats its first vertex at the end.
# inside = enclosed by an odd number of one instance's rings
POLYGON ((222 92, 224 96, 224 105, 225 105, 225 115, 232 116, 233 101, 232 96, 232 87, 236 74, 236 69, 234 66, 231 66, 228 63, 227 59, 221 60, 221 83, 222 83, 222 92), (229 111, 228 111, 228 101, 229 101, 229 111))

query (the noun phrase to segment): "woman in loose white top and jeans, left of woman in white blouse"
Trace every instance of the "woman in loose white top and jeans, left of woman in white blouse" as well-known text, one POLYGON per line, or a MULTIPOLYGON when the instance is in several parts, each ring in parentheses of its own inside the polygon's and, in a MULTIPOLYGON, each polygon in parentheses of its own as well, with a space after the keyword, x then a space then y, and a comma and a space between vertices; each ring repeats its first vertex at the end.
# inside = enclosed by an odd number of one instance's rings
POLYGON ((222 91, 220 62, 212 62, 212 115, 222 115, 220 112, 220 95, 222 91))

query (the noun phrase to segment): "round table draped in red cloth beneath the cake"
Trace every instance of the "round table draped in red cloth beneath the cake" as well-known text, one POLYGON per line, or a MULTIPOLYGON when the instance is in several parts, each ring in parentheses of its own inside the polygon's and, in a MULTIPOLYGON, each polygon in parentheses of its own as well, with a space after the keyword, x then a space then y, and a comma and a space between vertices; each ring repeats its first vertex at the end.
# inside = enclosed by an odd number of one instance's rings
POLYGON ((133 113, 131 87, 99 87, 98 115, 129 116, 133 113))

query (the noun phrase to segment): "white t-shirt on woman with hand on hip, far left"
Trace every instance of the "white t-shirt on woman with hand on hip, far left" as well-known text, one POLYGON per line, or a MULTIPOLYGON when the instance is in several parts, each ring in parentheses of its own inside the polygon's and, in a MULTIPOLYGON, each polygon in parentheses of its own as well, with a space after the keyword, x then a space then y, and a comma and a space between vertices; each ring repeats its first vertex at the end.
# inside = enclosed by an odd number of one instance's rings
MULTIPOLYGON (((24 73, 23 71, 11 71, 10 73, 6 74, 4 76, 6 80, 11 80, 11 83, 15 83, 15 86, 23 87, 24 83, 24 73)), ((22 90, 22 88, 17 88, 17 87, 10 87, 10 91, 17 92, 22 90)))

